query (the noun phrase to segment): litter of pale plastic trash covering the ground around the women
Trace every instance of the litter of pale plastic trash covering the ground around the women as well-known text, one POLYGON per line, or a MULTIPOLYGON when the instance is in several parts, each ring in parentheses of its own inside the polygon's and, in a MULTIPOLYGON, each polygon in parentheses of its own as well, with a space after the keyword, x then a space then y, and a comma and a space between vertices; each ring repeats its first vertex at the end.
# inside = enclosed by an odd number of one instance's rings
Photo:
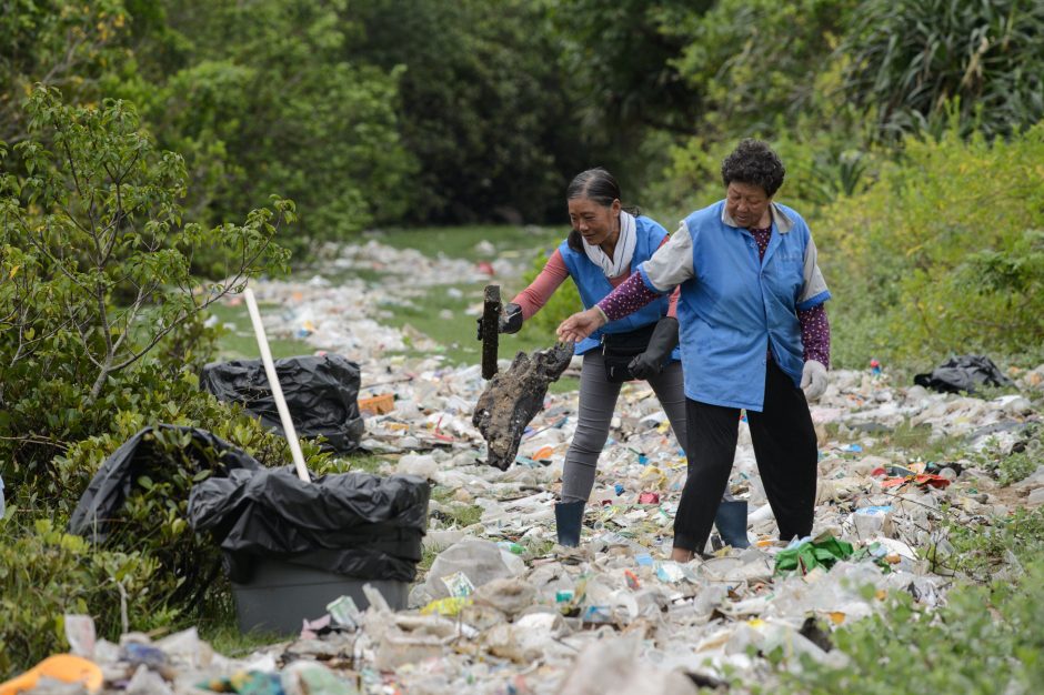
MULTIPOLYGON (((409 301, 409 292, 438 278, 475 274, 473 266, 375 242, 334 264, 408 269, 413 286, 313 279, 257 291, 294 306, 293 321, 268 318, 273 334, 299 334, 307 314, 308 340, 370 365, 360 399, 389 397, 379 411, 364 411, 362 449, 388 454, 381 473, 434 485, 424 537, 431 564, 413 584, 409 608, 392 611, 370 591, 365 611, 334 602, 327 615, 302 615, 299 637, 244 659, 214 654, 194 631, 157 642, 124 635, 120 645, 91 638, 78 646, 70 637, 74 652, 104 672, 106 692, 604 695, 695 693, 729 673, 771 682, 755 654, 776 647, 785 668, 800 669, 802 657, 843 667, 847 657, 830 631, 874 614, 890 590, 928 608, 943 604, 954 577, 924 551, 945 554, 944 522, 1044 504, 1044 465, 1002 488, 977 455, 1040 446, 1044 365, 1010 374, 1018 395, 987 400, 900 386, 873 364, 832 372, 813 404, 820 482, 811 537, 776 540, 743 422, 730 488, 747 502, 751 547, 709 546, 710 560, 671 562, 685 460, 652 390, 632 382, 599 462, 581 545, 558 546, 553 503, 576 426, 576 393, 545 397, 515 465, 485 465, 471 423, 484 386, 479 365, 388 356, 403 336, 380 323, 381 302, 409 301), (885 444, 901 429, 962 437, 965 447, 953 460, 910 460, 885 444)), ((486 281, 479 273, 476 289, 486 281)))

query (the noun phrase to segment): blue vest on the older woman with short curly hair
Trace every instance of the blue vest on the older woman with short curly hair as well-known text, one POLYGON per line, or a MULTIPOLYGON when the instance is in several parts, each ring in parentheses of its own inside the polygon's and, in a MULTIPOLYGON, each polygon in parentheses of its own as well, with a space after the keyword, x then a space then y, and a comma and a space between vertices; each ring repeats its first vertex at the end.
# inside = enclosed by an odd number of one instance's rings
POLYGON ((723 208, 720 201, 685 218, 694 271, 677 302, 685 395, 761 412, 770 348, 794 385, 801 383, 797 298, 811 233, 796 212, 780 205, 795 223, 781 233, 773 220, 765 258, 759 260, 754 236, 725 224, 723 208))

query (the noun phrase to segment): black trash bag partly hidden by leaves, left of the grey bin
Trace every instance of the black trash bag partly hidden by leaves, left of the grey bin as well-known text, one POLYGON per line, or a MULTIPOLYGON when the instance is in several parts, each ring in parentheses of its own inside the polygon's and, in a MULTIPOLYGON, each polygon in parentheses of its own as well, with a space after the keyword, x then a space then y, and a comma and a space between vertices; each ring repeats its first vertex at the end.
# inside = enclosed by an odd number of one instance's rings
MULTIPOLYGON (((182 452, 198 465, 199 471, 213 471, 215 476, 221 476, 229 471, 262 467, 253 456, 205 430, 174 425, 159 425, 158 429, 189 433, 191 441, 182 452)), ((90 536, 96 543, 104 541, 109 521, 123 506, 133 482, 171 465, 170 454, 157 446, 153 431, 153 427, 145 427, 106 459, 72 513, 70 533, 90 536)))

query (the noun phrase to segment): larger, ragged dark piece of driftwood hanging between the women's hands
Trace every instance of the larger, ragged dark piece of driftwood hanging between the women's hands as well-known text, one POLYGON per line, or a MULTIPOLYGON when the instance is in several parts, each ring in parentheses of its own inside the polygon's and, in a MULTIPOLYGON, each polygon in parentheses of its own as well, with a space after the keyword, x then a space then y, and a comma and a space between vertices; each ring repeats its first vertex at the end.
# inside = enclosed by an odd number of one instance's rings
POLYGON ((543 406, 548 385, 558 381, 572 359, 572 343, 532 354, 520 352, 506 371, 486 384, 471 419, 489 444, 486 463, 501 471, 514 463, 522 433, 543 406))

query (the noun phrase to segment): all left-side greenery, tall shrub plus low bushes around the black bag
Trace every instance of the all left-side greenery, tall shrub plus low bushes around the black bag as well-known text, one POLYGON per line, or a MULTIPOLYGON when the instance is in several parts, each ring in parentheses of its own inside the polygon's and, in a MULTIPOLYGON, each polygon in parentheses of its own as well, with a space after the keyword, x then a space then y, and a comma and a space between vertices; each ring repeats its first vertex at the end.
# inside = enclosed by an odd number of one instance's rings
POLYGON ((288 457, 283 440, 201 392, 198 371, 213 346, 202 312, 285 268, 272 239, 293 204, 275 199, 242 224, 184 220, 182 159, 119 100, 71 107, 37 88, 21 122, 27 137, 0 149, 11 164, 0 178, 0 461, 12 503, 0 676, 60 646, 63 612, 102 616, 114 638, 127 602, 128 625, 151 628, 224 600, 215 548, 185 520, 189 487, 210 469, 190 465, 181 437, 157 437, 167 465, 133 481, 103 547, 58 531, 131 435, 195 425, 264 463, 288 457), (221 281, 193 274, 199 252, 221 281))

